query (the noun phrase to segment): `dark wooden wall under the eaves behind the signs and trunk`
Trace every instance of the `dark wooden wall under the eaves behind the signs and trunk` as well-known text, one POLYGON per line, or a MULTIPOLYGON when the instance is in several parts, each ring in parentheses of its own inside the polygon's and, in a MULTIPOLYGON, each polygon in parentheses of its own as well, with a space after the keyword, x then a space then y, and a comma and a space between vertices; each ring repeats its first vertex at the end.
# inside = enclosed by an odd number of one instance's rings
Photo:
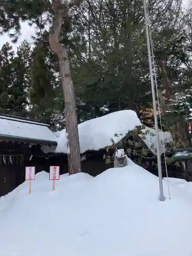
MULTIPOLYGON (((90 152, 86 161, 82 161, 82 172, 88 173, 91 176, 97 176, 105 169, 113 167, 106 164, 103 160, 104 151, 90 152)), ((25 166, 35 166, 36 173, 44 170, 49 173, 50 165, 60 166, 60 175, 68 173, 68 159, 66 155, 33 156, 31 161, 30 154, 23 156, 22 161, 14 161, 12 164, 7 160, 6 164, 1 161, 0 165, 0 197, 8 194, 18 185, 25 181, 25 166)), ((8 156, 7 156, 8 159, 8 156)))

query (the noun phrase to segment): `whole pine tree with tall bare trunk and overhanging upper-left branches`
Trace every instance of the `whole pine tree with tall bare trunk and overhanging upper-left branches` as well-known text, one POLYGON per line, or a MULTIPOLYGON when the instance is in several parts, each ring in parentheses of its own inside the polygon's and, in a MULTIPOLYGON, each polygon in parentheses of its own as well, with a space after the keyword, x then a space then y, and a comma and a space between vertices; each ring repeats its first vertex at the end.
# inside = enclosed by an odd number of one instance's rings
POLYGON ((63 24, 69 20, 69 11, 71 8, 78 6, 81 1, 71 1, 69 4, 63 4, 61 0, 50 1, 2 1, 0 12, 0 25, 3 31, 7 32, 11 28, 15 29, 13 40, 18 37, 20 30, 20 19, 28 20, 31 24, 37 25, 39 35, 45 28, 46 22, 51 22, 51 30, 49 33, 49 42, 52 51, 57 55, 59 60, 59 71, 61 83, 65 98, 66 109, 66 130, 68 134, 68 142, 70 153, 69 173, 74 174, 81 172, 80 147, 76 115, 76 100, 71 77, 70 60, 65 44, 59 43, 59 37, 63 24), (45 14, 45 15, 44 15, 45 14), (43 18, 44 16, 45 19, 43 18), (45 21, 46 20, 46 21, 45 21))

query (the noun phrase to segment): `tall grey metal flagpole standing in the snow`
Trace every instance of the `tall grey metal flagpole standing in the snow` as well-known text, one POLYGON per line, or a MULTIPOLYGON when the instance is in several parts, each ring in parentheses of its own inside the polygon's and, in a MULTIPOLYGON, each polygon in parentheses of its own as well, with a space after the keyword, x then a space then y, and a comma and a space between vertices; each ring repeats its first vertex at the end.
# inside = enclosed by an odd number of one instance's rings
POLYGON ((148 33, 148 17, 146 11, 146 0, 143 0, 144 5, 144 17, 145 17, 145 28, 146 28, 146 41, 148 50, 148 62, 150 63, 150 77, 152 85, 152 97, 153 97, 153 110, 154 110, 154 120, 155 120, 155 130, 156 130, 156 140, 157 140, 157 164, 158 164, 158 175, 159 175, 159 191, 160 191, 160 201, 164 201, 165 197, 163 195, 163 181, 162 181, 162 169, 161 169, 161 154, 160 154, 160 140, 159 140, 159 130, 157 122, 157 109, 156 109, 156 99, 155 99, 155 87, 153 78, 153 68, 152 68, 152 56, 151 56, 151 46, 150 46, 150 35, 148 33))

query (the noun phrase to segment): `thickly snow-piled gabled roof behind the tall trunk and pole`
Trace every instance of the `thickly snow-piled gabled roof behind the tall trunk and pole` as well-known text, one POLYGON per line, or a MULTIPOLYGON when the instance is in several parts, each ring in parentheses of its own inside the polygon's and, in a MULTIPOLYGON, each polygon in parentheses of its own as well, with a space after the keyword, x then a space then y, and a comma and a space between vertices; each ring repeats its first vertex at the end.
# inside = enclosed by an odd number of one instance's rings
MULTIPOLYGON (((110 113, 108 115, 82 122, 78 125, 80 153, 89 150, 100 150, 118 143, 126 134, 133 131, 136 126, 142 125, 137 114, 132 110, 122 110, 110 113), (115 134, 117 136, 115 136, 115 134), (112 142, 113 140, 113 142, 112 142)), ((146 146, 156 154, 157 140, 156 131, 145 126, 140 135, 146 146), (147 131, 147 133, 146 133, 147 131)), ((56 133, 57 148, 55 153, 67 153, 66 130, 56 133)), ((172 138, 170 133, 159 132, 161 146, 160 152, 163 153, 163 144, 169 142, 172 138)))

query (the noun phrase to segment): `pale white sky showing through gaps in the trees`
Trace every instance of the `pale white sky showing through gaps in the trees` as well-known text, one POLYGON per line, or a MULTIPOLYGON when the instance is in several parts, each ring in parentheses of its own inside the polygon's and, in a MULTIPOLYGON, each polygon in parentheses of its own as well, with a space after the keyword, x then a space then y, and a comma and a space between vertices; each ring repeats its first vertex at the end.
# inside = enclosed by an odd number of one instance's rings
MULTIPOLYGON (((187 8, 188 6, 188 3, 189 3, 190 0, 183 0, 183 6, 184 8, 187 8)), ((31 36, 35 34, 35 31, 34 31, 34 27, 29 27, 27 23, 23 23, 22 24, 22 31, 21 31, 21 35, 17 41, 16 44, 12 44, 11 42, 11 39, 9 37, 8 34, 4 34, 4 35, 1 35, 0 36, 0 49, 2 48, 2 46, 6 43, 6 42, 9 42, 12 47, 13 47, 13 50, 16 52, 17 50, 17 47, 20 45, 20 43, 23 41, 23 40, 28 40, 28 41, 31 41, 32 43, 32 39, 31 39, 31 36)))

